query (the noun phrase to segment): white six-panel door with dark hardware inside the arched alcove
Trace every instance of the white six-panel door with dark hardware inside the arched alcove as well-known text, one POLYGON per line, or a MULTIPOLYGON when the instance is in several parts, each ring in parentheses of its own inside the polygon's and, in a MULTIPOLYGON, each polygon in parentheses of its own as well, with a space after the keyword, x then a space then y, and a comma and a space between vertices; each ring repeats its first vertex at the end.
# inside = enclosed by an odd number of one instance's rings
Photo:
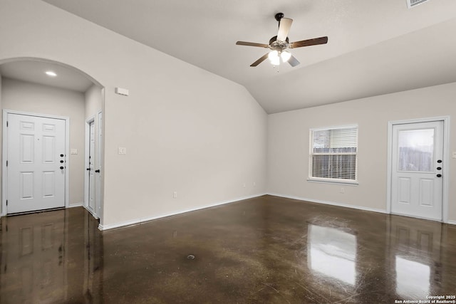
POLYGON ((8 114, 8 214, 65 206, 65 120, 8 114))

